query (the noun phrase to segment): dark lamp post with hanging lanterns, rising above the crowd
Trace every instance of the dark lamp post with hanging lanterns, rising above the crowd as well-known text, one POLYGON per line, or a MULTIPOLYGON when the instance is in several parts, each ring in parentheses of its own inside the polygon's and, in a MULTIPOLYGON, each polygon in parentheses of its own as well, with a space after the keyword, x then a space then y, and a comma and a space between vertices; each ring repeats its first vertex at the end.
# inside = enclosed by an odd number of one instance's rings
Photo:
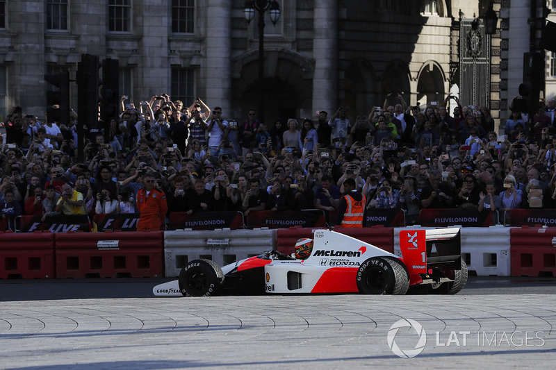
POLYGON ((243 16, 250 24, 255 17, 255 11, 259 12, 259 119, 264 123, 265 117, 265 74, 264 74, 264 32, 265 32, 265 12, 270 11, 270 21, 276 24, 280 19, 280 7, 276 0, 249 0, 245 1, 243 16))

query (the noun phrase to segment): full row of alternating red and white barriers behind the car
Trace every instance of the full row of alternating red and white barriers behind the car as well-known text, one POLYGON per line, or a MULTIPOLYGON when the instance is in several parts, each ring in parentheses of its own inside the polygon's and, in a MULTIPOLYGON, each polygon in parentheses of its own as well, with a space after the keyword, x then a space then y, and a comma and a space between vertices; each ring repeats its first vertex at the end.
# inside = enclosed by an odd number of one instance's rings
MULTIPOLYGON (((174 277, 197 258, 224 265, 272 249, 293 253, 319 228, 0 232, 0 278, 174 277)), ((401 256, 400 233, 422 228, 432 227, 335 230, 401 256)), ((556 228, 461 228, 461 254, 477 276, 555 276, 556 228)))

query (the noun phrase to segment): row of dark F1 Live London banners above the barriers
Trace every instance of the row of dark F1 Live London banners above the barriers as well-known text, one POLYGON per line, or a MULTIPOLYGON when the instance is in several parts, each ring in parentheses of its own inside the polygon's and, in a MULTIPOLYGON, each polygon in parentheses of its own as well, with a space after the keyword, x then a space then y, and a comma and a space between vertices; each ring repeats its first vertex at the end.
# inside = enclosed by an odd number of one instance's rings
MULTIPOLYGON (((302 226, 304 228, 329 227, 336 225, 336 212, 310 209, 301 211, 254 211, 249 215, 243 212, 199 212, 188 215, 186 212, 172 212, 168 217, 166 230, 216 230, 220 228, 254 229, 254 228, 288 228, 302 226)), ((30 233, 37 230, 50 230, 53 233, 67 231, 136 231, 140 215, 109 214, 95 215, 90 220, 85 215, 72 216, 19 216, 16 218, 16 232, 30 233)), ((530 209, 510 210, 508 212, 478 212, 477 210, 460 209, 423 209, 417 218, 421 226, 548 226, 556 227, 556 210, 530 209)), ((404 210, 366 210, 363 227, 406 226, 404 210)))

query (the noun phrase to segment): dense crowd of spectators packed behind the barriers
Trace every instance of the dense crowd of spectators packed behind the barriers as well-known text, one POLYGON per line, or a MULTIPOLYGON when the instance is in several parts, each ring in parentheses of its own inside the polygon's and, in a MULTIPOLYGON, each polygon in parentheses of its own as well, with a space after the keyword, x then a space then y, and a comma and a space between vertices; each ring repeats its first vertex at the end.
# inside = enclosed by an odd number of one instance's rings
MULTIPOLYGON (((457 98, 424 109, 400 94, 353 119, 350 108, 304 119, 260 122, 197 99, 167 94, 85 128, 79 117, 42 121, 17 106, 3 121, 0 230, 18 215, 137 212, 145 176, 165 193, 168 212, 338 210, 352 178, 367 209, 403 209, 412 224, 423 208, 498 211, 556 208, 555 101, 529 119, 512 112, 500 135, 486 107, 457 98), (455 105, 450 116, 446 106, 455 105), (530 127, 532 125, 532 127, 530 127)), ((502 221, 500 219, 499 221, 502 221)))

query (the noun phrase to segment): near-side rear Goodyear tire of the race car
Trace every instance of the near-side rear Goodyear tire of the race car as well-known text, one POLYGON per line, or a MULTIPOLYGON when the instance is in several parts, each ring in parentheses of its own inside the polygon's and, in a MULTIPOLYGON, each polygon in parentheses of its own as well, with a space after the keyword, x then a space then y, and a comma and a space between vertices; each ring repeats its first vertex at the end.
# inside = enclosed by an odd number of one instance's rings
POLYGON ((357 270, 357 289, 361 294, 405 294, 408 288, 407 271, 393 259, 369 258, 357 270))

